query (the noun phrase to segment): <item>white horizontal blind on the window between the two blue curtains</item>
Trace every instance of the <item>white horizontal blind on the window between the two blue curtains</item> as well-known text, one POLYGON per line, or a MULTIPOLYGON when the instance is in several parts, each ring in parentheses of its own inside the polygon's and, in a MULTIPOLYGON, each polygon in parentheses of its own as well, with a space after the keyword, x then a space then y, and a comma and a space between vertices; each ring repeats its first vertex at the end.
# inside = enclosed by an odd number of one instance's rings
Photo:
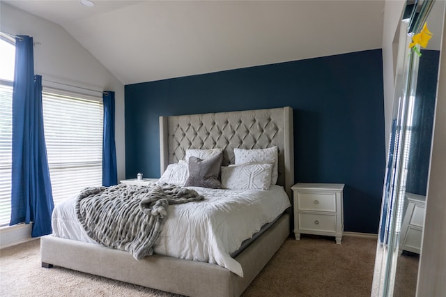
POLYGON ((54 204, 88 186, 102 185, 102 98, 60 93, 43 92, 54 204))

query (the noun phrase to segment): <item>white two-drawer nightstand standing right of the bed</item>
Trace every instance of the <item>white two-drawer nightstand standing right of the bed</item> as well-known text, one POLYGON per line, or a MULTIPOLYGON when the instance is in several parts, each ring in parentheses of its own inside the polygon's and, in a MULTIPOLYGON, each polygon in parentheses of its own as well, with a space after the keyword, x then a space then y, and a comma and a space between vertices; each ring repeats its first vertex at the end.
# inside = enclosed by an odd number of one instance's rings
POLYGON ((342 241, 344 231, 343 183, 296 183, 291 187, 294 198, 294 235, 334 236, 342 241))

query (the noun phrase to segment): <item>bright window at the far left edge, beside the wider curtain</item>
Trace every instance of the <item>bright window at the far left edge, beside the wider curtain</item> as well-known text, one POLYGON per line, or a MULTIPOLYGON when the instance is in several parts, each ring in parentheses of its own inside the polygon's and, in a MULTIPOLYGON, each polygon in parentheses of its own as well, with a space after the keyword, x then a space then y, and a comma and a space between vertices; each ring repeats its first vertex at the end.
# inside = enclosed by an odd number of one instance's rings
POLYGON ((0 34, 0 226, 9 224, 15 40, 0 34))

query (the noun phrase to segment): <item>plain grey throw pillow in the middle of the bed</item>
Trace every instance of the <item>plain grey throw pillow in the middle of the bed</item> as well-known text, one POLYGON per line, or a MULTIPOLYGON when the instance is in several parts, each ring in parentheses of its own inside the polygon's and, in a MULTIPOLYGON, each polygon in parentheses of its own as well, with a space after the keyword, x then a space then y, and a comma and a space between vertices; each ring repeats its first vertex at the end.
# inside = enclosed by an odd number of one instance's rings
POLYGON ((197 157, 189 158, 189 177, 185 186, 221 189, 220 166, 222 166, 223 154, 201 160, 197 157))

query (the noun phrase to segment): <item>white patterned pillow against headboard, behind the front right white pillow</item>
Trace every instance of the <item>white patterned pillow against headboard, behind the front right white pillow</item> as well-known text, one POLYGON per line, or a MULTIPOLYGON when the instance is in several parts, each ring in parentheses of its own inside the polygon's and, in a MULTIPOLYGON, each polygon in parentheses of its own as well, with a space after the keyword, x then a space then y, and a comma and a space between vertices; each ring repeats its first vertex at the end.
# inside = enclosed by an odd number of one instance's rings
POLYGON ((277 146, 261 149, 243 149, 234 148, 234 157, 236 165, 248 162, 272 162, 271 185, 277 183, 277 163, 279 152, 277 146))

